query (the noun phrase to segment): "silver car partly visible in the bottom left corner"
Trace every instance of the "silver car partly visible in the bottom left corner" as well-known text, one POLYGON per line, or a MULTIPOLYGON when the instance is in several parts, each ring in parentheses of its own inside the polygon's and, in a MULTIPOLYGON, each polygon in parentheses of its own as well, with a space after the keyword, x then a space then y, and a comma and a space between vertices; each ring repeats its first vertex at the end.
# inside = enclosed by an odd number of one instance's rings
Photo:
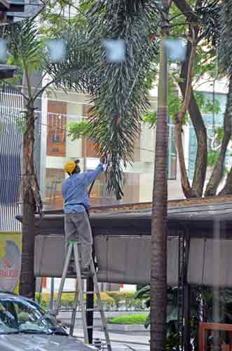
POLYGON ((93 351, 28 298, 0 292, 1 351, 93 351))

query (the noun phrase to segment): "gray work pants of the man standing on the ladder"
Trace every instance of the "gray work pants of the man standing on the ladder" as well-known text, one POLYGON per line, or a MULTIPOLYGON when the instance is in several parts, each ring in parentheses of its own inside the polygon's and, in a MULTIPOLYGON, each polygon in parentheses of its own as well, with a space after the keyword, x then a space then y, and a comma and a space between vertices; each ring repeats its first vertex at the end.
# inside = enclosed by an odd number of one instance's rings
POLYGON ((66 249, 69 241, 79 241, 81 253, 81 268, 87 268, 92 255, 93 237, 90 221, 86 212, 66 213, 64 218, 66 249))

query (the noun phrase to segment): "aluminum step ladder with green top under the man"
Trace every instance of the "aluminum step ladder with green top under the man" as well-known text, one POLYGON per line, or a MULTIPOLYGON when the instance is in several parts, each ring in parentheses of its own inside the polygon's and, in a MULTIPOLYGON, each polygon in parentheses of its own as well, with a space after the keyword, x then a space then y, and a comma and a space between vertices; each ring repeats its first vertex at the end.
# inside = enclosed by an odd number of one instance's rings
POLYGON ((100 289, 99 289, 98 282, 97 282, 97 274, 95 271, 95 265, 94 265, 92 256, 90 258, 90 276, 93 277, 93 284, 94 284, 95 291, 88 291, 86 293, 96 293, 97 307, 86 309, 84 301, 83 301, 83 284, 82 283, 83 283, 83 280, 87 279, 88 277, 81 277, 81 265, 80 265, 81 259, 80 259, 80 255, 79 255, 79 241, 69 241, 67 257, 66 257, 65 262, 64 262, 64 269, 62 272, 60 287, 59 287, 59 291, 57 294, 55 309, 53 310, 52 314, 54 316, 57 316, 57 314, 59 312, 60 300, 61 300, 61 296, 62 296, 62 291, 64 289, 64 282, 65 282, 65 279, 67 278, 67 271, 69 268, 69 263, 70 263, 71 257, 73 257, 72 254, 74 254, 74 263, 75 263, 75 267, 76 267, 76 272, 75 272, 74 276, 71 276, 71 278, 76 278, 76 289, 75 289, 74 305, 73 305, 72 313, 71 313, 70 335, 73 336, 73 333, 74 333, 74 326, 75 326, 75 321, 76 321, 76 310, 77 310, 77 307, 80 303, 85 343, 89 344, 88 329, 93 328, 93 326, 87 325, 86 312, 88 312, 88 311, 100 312, 101 319, 102 319, 102 327, 104 330, 104 336, 105 336, 106 343, 107 343, 107 349, 108 349, 108 351, 111 351, 111 343, 109 340, 109 333, 107 330, 107 320, 105 318, 104 310, 102 307, 100 289))

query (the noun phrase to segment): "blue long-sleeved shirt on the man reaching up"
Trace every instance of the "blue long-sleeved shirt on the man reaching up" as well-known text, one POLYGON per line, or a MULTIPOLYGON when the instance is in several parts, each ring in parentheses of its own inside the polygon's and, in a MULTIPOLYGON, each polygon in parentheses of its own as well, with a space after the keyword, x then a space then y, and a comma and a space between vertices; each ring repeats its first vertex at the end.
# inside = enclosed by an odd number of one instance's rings
POLYGON ((62 182, 62 197, 64 199, 64 213, 72 211, 83 213, 86 207, 90 207, 90 197, 88 196, 88 187, 93 180, 104 170, 103 164, 99 164, 94 171, 74 173, 62 182))

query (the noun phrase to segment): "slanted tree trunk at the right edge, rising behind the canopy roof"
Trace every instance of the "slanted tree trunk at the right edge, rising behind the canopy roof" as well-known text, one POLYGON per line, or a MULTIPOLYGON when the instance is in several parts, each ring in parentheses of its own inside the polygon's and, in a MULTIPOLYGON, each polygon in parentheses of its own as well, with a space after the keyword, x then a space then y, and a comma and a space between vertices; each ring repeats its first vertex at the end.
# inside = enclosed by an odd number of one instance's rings
MULTIPOLYGON (((229 81, 226 111, 224 113, 224 137, 221 143, 221 150, 219 152, 217 164, 214 166, 214 170, 212 171, 212 174, 210 176, 209 183, 207 183, 207 188, 205 190, 205 197, 216 195, 219 183, 223 178, 226 150, 228 147, 228 143, 231 140, 231 128, 232 128, 231 110, 232 110, 232 77, 230 77, 230 81, 229 81)), ((228 185, 227 185, 227 188, 229 189, 228 185)), ((225 191, 227 192, 227 190, 225 191)))

